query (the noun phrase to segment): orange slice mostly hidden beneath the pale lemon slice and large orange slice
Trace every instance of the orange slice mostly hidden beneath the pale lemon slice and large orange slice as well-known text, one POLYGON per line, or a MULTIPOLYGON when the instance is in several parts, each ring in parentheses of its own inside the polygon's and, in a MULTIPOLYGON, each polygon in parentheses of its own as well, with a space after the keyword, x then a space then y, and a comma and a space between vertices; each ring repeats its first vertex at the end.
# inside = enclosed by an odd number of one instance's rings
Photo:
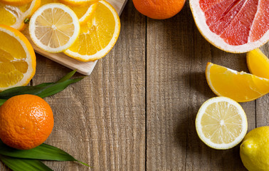
MULTIPOLYGON (((58 0, 42 0, 41 6, 45 4, 49 4, 49 3, 59 3, 59 2, 60 1, 58 0)), ((78 16, 78 21, 80 21, 80 25, 83 25, 87 23, 87 21, 95 12, 95 9, 97 7, 97 2, 90 1, 80 6, 68 6, 68 7, 72 9, 75 12, 75 14, 78 16)))

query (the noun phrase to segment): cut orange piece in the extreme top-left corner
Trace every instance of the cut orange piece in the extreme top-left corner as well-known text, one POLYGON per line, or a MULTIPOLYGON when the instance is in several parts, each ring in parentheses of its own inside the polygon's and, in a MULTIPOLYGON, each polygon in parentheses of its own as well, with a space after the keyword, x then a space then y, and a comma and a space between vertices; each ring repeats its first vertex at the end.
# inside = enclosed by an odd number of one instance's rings
POLYGON ((23 6, 10 6, 0 2, 0 24, 22 30, 25 27, 25 19, 38 9, 40 3, 41 0, 33 0, 23 6))

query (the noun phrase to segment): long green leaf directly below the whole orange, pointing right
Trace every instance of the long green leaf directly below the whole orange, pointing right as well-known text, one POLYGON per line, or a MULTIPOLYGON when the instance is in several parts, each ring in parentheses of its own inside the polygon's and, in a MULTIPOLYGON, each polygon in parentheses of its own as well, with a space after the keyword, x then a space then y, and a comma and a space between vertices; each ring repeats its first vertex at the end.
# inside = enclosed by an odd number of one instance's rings
MULTIPOLYGON (((0 154, 9 157, 27 158, 27 159, 39 159, 39 160, 56 160, 56 161, 76 161, 72 155, 67 152, 60 150, 58 147, 53 147, 51 145, 42 144, 30 150, 18 150, 9 147, 0 141, 0 154)), ((83 165, 90 167, 84 162, 80 162, 83 165)))

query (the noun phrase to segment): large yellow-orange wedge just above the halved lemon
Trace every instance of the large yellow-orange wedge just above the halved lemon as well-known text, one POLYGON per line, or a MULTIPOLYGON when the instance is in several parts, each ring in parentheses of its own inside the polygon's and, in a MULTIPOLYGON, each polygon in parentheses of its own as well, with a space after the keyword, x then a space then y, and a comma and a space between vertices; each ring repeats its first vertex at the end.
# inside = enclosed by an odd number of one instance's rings
POLYGON ((223 66, 208 63, 206 80, 216 95, 247 102, 269 93, 269 80, 243 71, 237 72, 223 66))

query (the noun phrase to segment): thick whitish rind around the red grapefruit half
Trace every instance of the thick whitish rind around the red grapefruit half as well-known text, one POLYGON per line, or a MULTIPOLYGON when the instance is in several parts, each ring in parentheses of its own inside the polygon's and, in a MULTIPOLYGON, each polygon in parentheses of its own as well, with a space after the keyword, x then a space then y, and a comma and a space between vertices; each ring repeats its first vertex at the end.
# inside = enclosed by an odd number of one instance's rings
POLYGON ((254 42, 248 42, 243 45, 233 46, 226 43, 220 36, 216 33, 213 33, 209 26, 206 24, 206 17, 204 15, 203 10, 199 5, 200 0, 190 0, 189 6, 191 8, 192 15, 194 16, 195 24, 206 41, 209 41, 213 46, 220 48, 223 51, 231 52, 231 53, 246 53, 248 51, 252 51, 255 48, 260 48, 269 40, 269 31, 258 40, 254 42))

